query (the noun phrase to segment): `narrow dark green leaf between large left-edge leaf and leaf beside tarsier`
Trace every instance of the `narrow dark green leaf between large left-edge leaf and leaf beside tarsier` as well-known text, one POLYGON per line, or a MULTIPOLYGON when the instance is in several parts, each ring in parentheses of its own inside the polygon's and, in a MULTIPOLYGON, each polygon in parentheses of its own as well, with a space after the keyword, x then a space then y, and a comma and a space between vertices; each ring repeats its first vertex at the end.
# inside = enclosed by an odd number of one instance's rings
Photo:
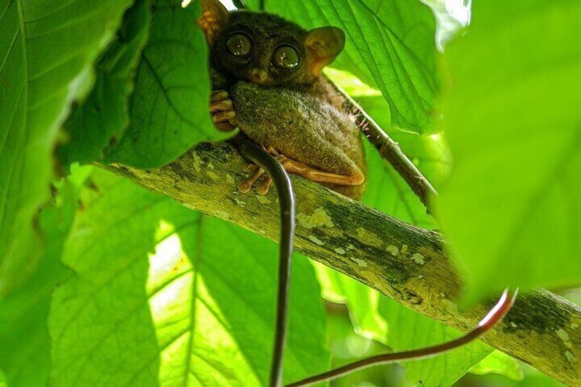
POLYGON ((119 138, 128 124, 127 98, 149 29, 149 1, 137 0, 123 16, 116 38, 95 65, 95 87, 81 105, 75 105, 64 123, 69 140, 59 147, 60 162, 86 164, 99 160, 103 149, 119 138))

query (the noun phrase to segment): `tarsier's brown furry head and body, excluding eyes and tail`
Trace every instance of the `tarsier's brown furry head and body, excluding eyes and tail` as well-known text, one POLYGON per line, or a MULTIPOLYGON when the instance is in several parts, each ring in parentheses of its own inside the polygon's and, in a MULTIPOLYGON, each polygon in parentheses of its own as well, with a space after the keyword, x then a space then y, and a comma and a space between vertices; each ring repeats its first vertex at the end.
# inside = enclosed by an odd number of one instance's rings
POLYGON ((217 0, 203 0, 202 5, 198 23, 210 45, 212 86, 227 92, 215 94, 212 113, 217 126, 237 126, 266 149, 306 164, 317 176, 305 177, 360 199, 367 185, 360 129, 344 110, 341 94, 321 75, 343 49, 343 32, 335 27, 306 31, 261 12, 228 13, 217 0), (227 50, 227 38, 236 32, 251 37, 249 58, 240 60, 227 50), (271 63, 273 50, 281 44, 297 49, 296 68, 271 63), (341 184, 318 171, 341 175, 341 184))

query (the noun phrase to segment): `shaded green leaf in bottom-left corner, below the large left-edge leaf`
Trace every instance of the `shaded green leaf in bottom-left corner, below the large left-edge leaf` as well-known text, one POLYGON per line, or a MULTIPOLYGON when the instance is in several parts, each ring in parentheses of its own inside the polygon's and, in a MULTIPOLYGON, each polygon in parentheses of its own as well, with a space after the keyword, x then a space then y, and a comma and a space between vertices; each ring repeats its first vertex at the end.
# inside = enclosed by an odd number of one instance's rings
POLYGON ((55 204, 38 217, 47 249, 37 270, 26 284, 0 299, 0 368, 8 386, 47 385, 50 338, 46 321, 53 288, 70 275, 60 258, 76 210, 73 184, 64 181, 59 186, 55 204))

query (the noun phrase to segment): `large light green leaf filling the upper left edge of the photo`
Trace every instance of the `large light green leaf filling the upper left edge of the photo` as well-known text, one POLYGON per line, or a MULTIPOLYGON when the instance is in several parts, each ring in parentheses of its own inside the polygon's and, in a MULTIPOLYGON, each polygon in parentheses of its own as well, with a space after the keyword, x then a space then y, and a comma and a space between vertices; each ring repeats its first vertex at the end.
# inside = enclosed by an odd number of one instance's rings
POLYGON ((130 3, 0 0, 0 294, 36 266, 58 129, 130 3))

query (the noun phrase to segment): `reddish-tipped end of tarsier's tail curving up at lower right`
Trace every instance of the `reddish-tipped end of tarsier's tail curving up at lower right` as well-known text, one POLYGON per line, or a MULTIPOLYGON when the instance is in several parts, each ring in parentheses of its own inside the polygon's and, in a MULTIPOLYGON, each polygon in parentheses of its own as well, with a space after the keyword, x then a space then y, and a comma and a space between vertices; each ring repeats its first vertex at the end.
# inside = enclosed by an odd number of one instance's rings
POLYGON ((504 316, 506 316, 512 307, 512 304, 515 302, 516 297, 517 291, 510 292, 508 289, 504 290, 502 297, 500 297, 499 301, 489 311, 489 313, 484 316, 484 319, 480 320, 480 323, 478 323, 478 325, 470 332, 460 338, 456 338, 455 340, 450 340, 448 342, 434 345, 432 347, 371 356, 369 358, 341 366, 338 369, 327 371, 319 375, 314 375, 306 379, 299 380, 298 382, 287 384, 286 387, 309 386, 310 384, 325 382, 327 380, 331 380, 354 371, 359 371, 370 366, 376 366, 378 364, 401 362, 402 360, 421 360, 425 358, 432 358, 436 355, 441 355, 442 353, 461 347, 462 345, 465 345, 472 340, 479 338, 484 333, 489 331, 489 329, 494 327, 499 321, 502 320, 504 316))

